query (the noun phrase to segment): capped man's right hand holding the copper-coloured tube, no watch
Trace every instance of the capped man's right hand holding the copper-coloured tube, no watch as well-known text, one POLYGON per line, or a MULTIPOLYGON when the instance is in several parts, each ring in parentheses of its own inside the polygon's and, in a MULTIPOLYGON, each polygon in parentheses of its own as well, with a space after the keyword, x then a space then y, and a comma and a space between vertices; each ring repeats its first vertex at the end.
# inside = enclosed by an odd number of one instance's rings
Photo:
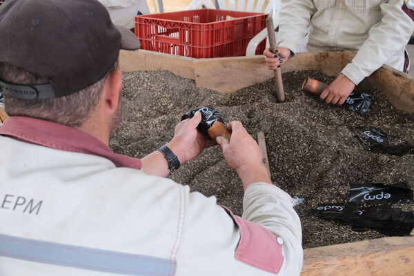
POLYGON ((228 127, 232 130, 230 141, 224 137, 217 137, 216 141, 223 150, 228 166, 242 179, 244 188, 255 182, 272 183, 262 164, 262 152, 255 139, 239 121, 230 122, 228 127))

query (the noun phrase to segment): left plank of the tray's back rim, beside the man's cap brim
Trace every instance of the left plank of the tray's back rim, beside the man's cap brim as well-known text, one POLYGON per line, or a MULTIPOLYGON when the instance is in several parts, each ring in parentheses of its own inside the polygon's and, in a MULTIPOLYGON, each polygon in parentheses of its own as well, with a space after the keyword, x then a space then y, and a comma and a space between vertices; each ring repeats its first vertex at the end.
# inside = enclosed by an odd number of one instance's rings
POLYGON ((180 57, 148 50, 121 50, 119 52, 119 65, 124 72, 167 70, 180 77, 195 79, 193 61, 195 59, 191 57, 180 57))

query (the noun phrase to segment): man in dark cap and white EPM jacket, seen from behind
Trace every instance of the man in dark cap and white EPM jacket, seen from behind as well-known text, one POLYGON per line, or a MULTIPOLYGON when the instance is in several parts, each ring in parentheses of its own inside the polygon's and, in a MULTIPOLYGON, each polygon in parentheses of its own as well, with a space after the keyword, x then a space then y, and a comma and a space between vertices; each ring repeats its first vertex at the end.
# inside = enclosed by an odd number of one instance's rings
POLYGON ((121 120, 120 49, 139 41, 96 0, 0 8, 0 275, 299 275, 301 226, 238 121, 217 138, 243 218, 165 178, 216 141, 198 113, 142 159, 108 147, 121 120))

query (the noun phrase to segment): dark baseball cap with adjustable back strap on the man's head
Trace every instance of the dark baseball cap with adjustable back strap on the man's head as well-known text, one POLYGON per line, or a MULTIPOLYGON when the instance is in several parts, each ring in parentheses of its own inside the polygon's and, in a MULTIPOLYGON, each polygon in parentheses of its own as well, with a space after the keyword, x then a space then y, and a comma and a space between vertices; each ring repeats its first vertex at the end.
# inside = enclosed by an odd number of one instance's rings
POLYGON ((0 61, 50 83, 21 85, 0 79, 0 91, 19 99, 70 95, 97 83, 119 50, 139 49, 130 30, 114 26, 96 0, 8 0, 0 6, 0 61))

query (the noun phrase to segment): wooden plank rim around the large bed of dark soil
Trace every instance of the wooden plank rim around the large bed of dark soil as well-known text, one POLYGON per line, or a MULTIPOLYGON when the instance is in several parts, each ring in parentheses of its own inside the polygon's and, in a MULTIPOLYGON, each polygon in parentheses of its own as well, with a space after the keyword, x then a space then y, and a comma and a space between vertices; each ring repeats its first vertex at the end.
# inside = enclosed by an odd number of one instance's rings
MULTIPOLYGON (((301 53, 282 66, 282 72, 318 70, 336 76, 353 56, 350 51, 301 53)), ((194 79, 197 87, 225 93, 274 77, 273 71, 264 66, 262 56, 193 59, 146 50, 121 51, 120 65, 125 72, 167 70, 194 79)), ((364 90, 374 86, 395 108, 414 113, 414 79, 382 66, 359 85, 364 90)), ((413 276, 414 237, 386 237, 306 249, 301 275, 413 276)))

